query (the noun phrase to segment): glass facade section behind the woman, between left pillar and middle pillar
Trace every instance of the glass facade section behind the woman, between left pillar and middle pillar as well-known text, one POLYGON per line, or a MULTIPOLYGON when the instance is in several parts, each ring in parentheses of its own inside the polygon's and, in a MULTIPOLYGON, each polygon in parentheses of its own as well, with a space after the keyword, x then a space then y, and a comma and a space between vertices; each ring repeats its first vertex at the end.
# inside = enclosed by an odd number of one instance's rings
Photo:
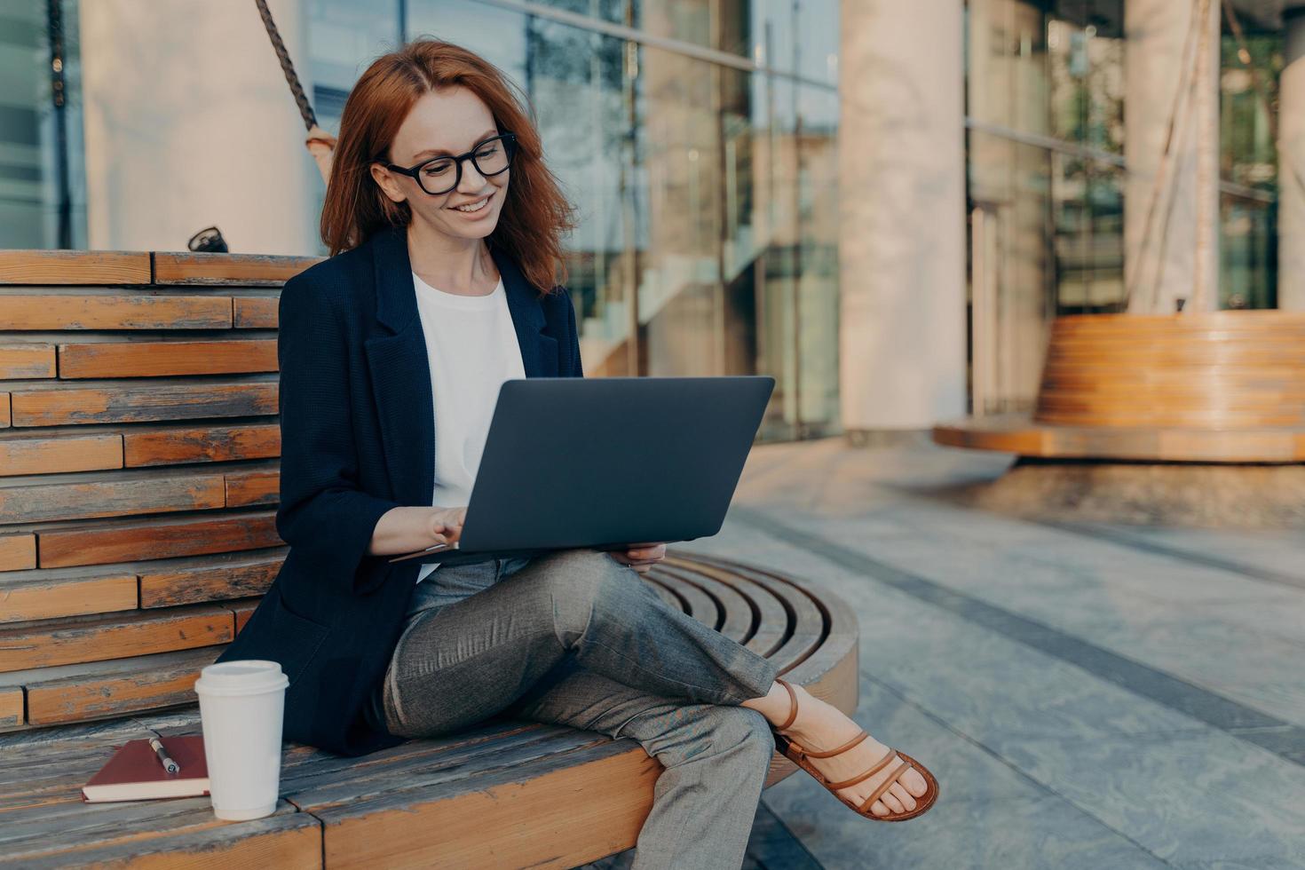
POLYGON ((838 427, 837 0, 311 0, 338 129, 376 55, 436 37, 530 97, 578 207, 587 374, 770 374, 762 438, 838 427))

